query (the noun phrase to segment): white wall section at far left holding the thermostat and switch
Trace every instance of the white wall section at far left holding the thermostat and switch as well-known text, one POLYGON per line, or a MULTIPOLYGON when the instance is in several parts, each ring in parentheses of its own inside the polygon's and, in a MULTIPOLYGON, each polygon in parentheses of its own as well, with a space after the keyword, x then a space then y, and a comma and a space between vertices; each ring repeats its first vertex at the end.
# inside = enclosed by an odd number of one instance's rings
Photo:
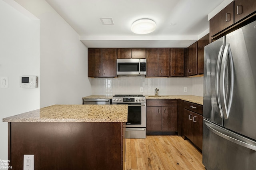
POLYGON ((40 23, 0 0, 0 25, 0 77, 9 81, 8 88, 0 88, 0 159, 8 160, 8 123, 2 119, 40 108, 40 84, 36 89, 19 85, 21 75, 39 76, 40 23))

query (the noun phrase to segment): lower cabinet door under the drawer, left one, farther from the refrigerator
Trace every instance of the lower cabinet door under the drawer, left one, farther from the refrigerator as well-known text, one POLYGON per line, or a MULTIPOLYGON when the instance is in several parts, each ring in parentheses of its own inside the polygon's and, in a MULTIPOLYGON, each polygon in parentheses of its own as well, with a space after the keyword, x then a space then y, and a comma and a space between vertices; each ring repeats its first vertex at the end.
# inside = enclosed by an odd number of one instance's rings
POLYGON ((184 135, 193 141, 193 112, 184 109, 184 135))

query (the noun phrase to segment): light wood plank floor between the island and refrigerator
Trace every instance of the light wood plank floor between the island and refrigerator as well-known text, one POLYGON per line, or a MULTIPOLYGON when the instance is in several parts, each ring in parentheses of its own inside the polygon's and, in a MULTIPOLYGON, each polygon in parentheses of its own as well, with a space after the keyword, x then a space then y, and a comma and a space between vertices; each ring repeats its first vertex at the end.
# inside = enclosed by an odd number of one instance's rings
POLYGON ((126 170, 205 170, 202 153, 177 135, 126 139, 126 170))

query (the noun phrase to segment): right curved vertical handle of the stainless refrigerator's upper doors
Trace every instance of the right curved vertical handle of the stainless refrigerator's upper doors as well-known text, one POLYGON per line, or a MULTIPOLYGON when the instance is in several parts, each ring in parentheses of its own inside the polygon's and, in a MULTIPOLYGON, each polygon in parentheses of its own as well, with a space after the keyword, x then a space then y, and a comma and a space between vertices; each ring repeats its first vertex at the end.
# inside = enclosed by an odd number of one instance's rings
POLYGON ((233 57, 230 49, 230 44, 226 43, 226 47, 223 52, 222 57, 222 63, 221 63, 221 69, 220 69, 220 99, 223 109, 223 115, 225 119, 228 119, 230 109, 231 109, 231 103, 233 98, 233 89, 234 89, 234 63, 233 63, 233 57), (227 62, 229 58, 229 63, 227 62), (229 65, 228 65, 229 64, 229 65), (230 76, 230 87, 226 89, 229 93, 227 93, 228 96, 226 96, 225 93, 225 73, 227 67, 230 67, 230 73, 228 73, 227 76, 230 76), (228 103, 227 103, 228 101, 228 103))

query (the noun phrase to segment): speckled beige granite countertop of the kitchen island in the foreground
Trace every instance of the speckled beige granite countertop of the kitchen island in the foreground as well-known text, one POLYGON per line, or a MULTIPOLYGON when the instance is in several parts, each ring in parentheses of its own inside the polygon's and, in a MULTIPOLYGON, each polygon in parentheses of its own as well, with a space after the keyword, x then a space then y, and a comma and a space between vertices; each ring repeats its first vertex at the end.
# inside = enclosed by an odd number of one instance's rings
POLYGON ((128 105, 52 105, 3 122, 127 122, 128 105))

